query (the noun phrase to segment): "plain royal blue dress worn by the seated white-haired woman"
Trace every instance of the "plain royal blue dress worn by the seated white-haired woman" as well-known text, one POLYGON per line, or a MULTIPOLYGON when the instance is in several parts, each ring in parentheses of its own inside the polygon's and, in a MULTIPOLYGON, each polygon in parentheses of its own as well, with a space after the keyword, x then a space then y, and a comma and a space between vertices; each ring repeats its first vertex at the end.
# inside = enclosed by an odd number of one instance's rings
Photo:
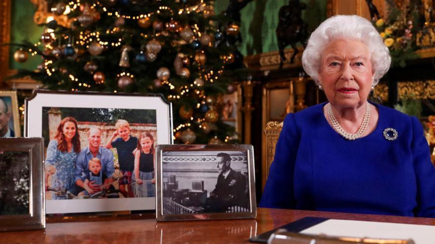
POLYGON ((347 140, 315 105, 288 114, 260 207, 435 217, 435 168, 416 117, 378 107, 369 135, 347 140), (386 128, 398 132, 387 140, 386 128))

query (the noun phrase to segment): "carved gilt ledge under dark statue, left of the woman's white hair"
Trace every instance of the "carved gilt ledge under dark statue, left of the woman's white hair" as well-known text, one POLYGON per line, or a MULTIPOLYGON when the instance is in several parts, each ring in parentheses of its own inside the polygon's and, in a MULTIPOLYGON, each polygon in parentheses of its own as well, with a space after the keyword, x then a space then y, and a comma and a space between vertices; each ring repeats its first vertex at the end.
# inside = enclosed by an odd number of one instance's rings
MULTIPOLYGON (((293 49, 284 50, 284 56, 286 57, 286 60, 284 61, 283 69, 302 67, 301 59, 304 49, 302 47, 299 47, 298 50, 299 53, 295 56, 293 64, 290 64, 290 58, 293 56, 293 49)), ((246 67, 253 70, 261 71, 278 70, 280 62, 281 57, 279 56, 278 51, 246 56, 244 60, 246 67)))

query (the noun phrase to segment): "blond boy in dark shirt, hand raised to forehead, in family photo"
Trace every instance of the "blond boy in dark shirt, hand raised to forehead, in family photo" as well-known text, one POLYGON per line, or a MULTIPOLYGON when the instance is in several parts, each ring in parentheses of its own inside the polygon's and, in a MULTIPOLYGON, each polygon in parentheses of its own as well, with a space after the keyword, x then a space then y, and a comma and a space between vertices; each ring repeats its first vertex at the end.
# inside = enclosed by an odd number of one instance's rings
POLYGON ((131 191, 131 175, 134 169, 133 151, 137 146, 137 138, 130 135, 130 124, 119 119, 115 124, 116 131, 107 141, 106 148, 116 148, 118 152, 119 170, 123 177, 119 181, 119 190, 124 197, 134 197, 131 191), (116 137, 119 137, 115 139, 116 137))

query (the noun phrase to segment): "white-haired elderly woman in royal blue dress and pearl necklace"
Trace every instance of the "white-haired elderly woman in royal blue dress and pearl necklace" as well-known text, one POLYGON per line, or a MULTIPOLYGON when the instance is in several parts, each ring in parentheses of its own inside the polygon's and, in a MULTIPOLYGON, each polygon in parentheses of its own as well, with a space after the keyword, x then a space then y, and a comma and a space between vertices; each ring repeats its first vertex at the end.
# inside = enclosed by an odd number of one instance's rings
POLYGON ((435 217, 435 169, 419 120, 367 102, 391 63, 373 25, 327 19, 302 62, 328 103, 285 118, 260 207, 435 217))

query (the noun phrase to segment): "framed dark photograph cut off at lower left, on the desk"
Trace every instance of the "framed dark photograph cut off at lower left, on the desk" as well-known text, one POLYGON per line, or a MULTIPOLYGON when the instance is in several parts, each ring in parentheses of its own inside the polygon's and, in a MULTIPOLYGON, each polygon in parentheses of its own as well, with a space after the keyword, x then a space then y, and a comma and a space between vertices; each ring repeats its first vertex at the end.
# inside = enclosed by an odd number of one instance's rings
POLYGON ((0 231, 45 228, 42 138, 0 139, 0 231))

